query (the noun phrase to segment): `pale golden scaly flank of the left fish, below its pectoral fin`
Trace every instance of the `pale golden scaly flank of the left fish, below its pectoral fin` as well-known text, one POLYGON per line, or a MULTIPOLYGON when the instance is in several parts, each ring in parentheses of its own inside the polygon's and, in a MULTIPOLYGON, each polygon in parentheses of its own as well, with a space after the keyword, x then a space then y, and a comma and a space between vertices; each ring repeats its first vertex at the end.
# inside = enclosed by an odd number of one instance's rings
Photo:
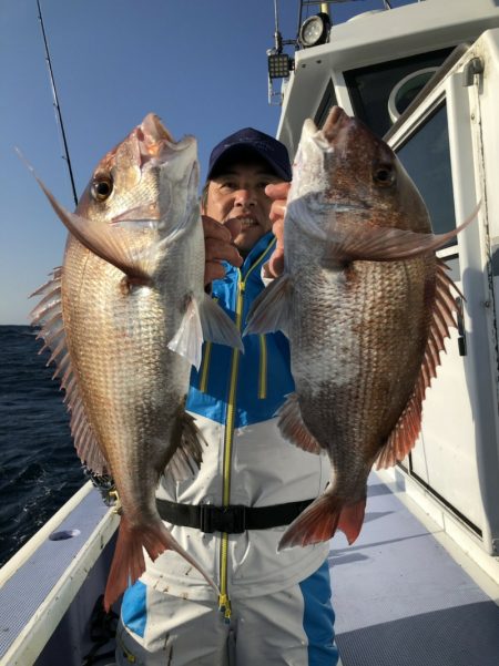
POLYGON ((65 268, 63 312, 71 322, 69 349, 83 378, 88 417, 113 474, 123 479, 121 501, 133 498, 134 508, 136 498, 145 501, 141 486, 155 485, 175 451, 169 450, 175 447, 170 433, 190 363, 167 349, 175 322, 159 326, 169 317, 157 290, 122 294, 122 273, 72 237, 65 268))

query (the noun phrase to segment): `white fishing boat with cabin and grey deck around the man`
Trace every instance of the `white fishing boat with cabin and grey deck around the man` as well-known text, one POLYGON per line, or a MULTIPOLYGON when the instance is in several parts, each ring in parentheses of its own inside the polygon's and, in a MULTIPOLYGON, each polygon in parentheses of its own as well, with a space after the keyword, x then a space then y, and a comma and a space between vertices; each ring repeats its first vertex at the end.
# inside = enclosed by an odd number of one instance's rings
MULTIPOLYGON (((384 136, 436 233, 477 208, 438 252, 462 291, 411 453, 373 472, 366 522, 330 543, 343 666, 499 665, 499 2, 387 0, 335 23, 299 2, 267 52, 277 137, 333 105, 384 136), (307 13, 307 16, 304 16, 307 13)), ((277 12, 276 12, 277 13, 277 12)), ((102 489, 101 489, 102 490, 102 489)), ((90 481, 0 572, 0 664, 113 663, 103 593, 119 516, 90 481)), ((114 607, 119 613, 119 604, 114 607)))

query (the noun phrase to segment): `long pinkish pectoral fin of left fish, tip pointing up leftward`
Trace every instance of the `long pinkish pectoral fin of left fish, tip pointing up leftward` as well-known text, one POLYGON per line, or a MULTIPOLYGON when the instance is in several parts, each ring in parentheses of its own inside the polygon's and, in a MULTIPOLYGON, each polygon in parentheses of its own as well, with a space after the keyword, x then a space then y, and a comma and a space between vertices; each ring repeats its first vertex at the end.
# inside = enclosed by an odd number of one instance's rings
POLYGON ((89 221, 62 206, 43 182, 34 175, 58 217, 82 245, 104 262, 122 270, 132 280, 151 281, 151 253, 140 253, 130 244, 130 230, 106 222, 89 221))

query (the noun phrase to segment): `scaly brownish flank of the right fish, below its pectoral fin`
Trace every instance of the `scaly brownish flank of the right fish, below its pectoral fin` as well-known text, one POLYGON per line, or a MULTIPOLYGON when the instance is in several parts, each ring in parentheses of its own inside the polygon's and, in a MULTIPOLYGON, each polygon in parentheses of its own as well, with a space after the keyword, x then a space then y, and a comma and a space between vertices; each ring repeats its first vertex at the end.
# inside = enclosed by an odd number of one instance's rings
POLYGON ((306 326, 301 336, 292 334, 292 370, 304 421, 318 441, 330 440, 335 461, 360 445, 376 457, 379 437, 391 432, 419 371, 429 327, 428 318, 415 316, 425 300, 421 260, 394 264, 353 267, 355 275, 345 280, 339 274, 334 286, 326 276, 323 290, 307 275, 299 280, 309 296, 296 310, 306 326))

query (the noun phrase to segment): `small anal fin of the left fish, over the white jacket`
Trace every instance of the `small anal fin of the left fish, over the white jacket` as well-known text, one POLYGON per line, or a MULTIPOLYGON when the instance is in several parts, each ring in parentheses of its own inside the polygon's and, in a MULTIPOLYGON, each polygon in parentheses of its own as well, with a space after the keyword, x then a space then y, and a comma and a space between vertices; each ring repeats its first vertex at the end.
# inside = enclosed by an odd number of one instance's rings
POLYGON ((195 424, 194 417, 183 411, 180 417, 179 445, 166 464, 164 475, 173 481, 193 478, 203 461, 202 444, 206 445, 206 440, 195 424))

